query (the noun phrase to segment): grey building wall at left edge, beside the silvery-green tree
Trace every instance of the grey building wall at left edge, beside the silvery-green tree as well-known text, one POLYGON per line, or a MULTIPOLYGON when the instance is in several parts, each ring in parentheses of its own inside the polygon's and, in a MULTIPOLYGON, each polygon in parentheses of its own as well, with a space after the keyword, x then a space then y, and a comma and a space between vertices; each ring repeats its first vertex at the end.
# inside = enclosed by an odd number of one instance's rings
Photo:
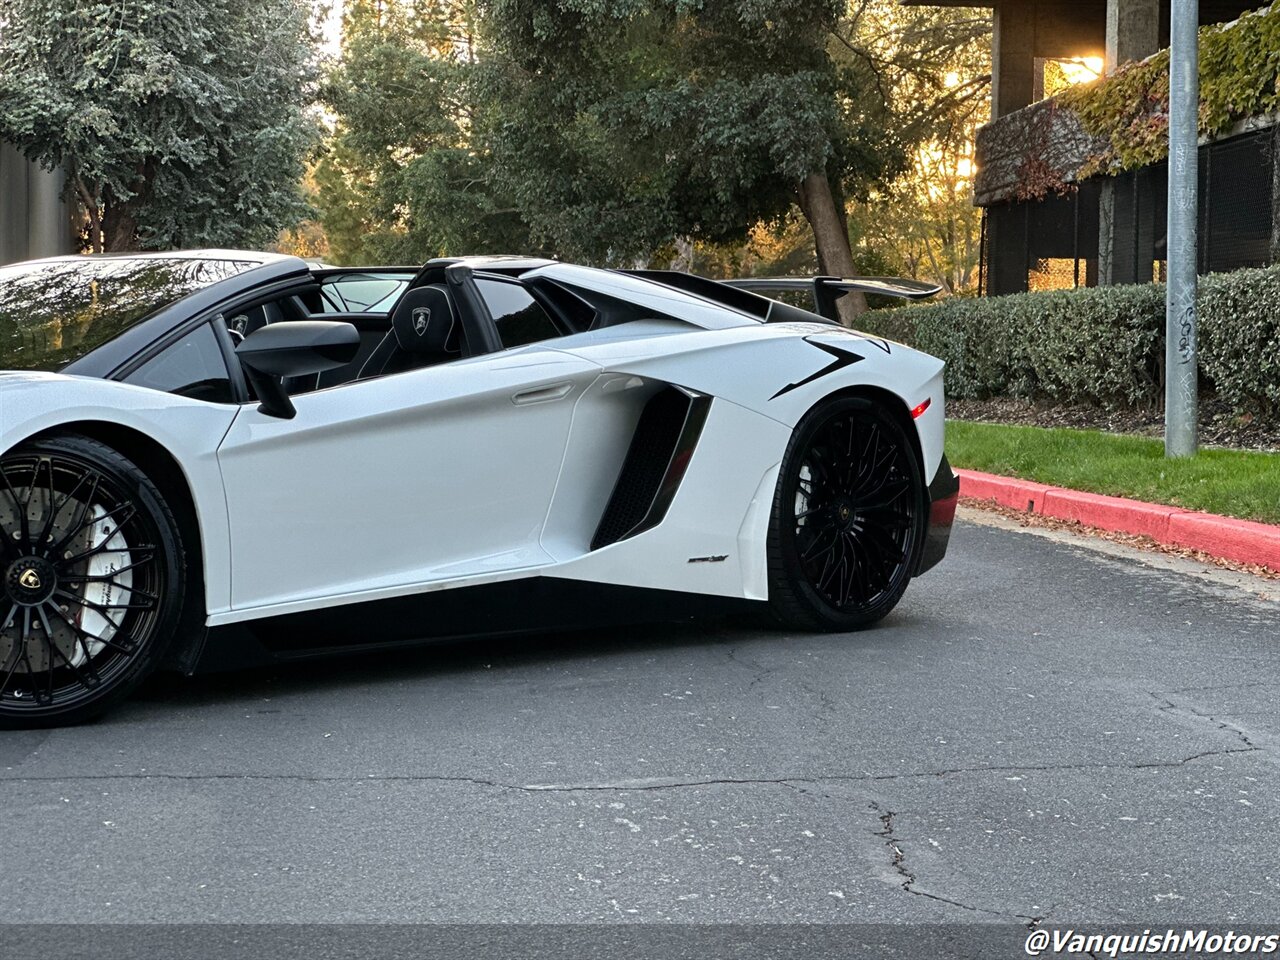
POLYGON ((74 251, 63 177, 0 143, 0 264, 74 251))

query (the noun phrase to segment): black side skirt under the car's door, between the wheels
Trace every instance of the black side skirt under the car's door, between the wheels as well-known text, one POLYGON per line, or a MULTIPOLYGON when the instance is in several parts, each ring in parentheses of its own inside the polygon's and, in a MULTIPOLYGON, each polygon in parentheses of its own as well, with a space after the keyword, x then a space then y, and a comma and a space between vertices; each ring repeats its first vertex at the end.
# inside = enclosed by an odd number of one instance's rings
POLYGON ((676 623, 763 609, 724 596, 526 577, 210 627, 191 673, 406 645, 559 630, 676 623))

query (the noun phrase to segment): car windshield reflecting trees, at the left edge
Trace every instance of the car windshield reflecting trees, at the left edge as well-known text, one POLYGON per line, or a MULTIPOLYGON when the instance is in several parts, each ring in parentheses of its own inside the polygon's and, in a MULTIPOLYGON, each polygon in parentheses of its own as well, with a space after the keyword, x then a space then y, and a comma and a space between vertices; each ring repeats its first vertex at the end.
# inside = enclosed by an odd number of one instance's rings
POLYGON ((157 310, 257 265, 84 257, 0 268, 0 370, 60 370, 157 310))

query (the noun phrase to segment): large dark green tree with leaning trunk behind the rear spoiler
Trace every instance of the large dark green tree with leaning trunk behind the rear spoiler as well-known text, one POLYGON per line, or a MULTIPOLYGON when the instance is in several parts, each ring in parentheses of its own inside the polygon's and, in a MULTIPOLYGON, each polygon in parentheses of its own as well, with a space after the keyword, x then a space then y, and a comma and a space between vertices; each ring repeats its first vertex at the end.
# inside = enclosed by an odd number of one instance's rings
POLYGON ((883 99, 828 49, 844 0, 484 10, 486 99, 508 118, 485 131, 495 177, 554 247, 627 261, 677 237, 741 242, 799 205, 819 269, 852 273, 845 202, 904 151, 883 99))

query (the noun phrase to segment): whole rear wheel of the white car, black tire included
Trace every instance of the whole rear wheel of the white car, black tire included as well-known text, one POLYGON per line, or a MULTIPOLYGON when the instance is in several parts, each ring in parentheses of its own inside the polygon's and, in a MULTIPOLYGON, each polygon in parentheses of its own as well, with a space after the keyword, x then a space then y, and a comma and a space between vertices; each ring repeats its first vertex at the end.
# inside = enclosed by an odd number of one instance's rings
POLYGON ((902 596, 919 562, 925 489, 900 417, 836 397, 796 426, 769 524, 769 607, 795 630, 861 630, 902 596))

